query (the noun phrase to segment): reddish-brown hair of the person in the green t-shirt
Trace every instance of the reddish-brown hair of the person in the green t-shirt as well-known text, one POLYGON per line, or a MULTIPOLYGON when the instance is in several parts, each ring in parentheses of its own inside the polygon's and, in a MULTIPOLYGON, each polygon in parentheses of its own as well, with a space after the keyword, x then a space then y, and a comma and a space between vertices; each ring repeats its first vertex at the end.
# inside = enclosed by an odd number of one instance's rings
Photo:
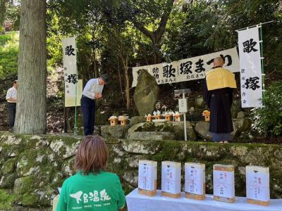
POLYGON ((75 169, 83 174, 97 174, 105 170, 108 160, 108 148, 99 136, 85 136, 75 155, 75 169))

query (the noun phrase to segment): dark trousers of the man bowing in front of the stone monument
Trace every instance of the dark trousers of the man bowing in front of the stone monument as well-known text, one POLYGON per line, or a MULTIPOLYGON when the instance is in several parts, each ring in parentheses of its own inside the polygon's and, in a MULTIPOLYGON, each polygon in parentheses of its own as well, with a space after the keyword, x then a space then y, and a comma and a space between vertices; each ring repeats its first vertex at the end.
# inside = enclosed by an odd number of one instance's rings
POLYGON ((95 121, 95 100, 82 95, 81 110, 85 136, 93 135, 95 121))

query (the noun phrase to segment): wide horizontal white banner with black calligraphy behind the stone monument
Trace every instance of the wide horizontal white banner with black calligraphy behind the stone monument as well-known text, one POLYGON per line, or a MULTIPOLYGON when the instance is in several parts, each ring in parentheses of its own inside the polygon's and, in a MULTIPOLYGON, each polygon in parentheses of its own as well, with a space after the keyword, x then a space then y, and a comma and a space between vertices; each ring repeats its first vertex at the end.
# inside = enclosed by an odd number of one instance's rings
POLYGON ((236 48, 209 53, 203 56, 185 58, 171 63, 159 63, 133 68, 133 84, 136 87, 141 70, 147 70, 158 84, 185 82, 195 79, 203 79, 205 72, 211 70, 214 58, 221 56, 225 62, 223 68, 231 72, 239 72, 239 58, 236 48))

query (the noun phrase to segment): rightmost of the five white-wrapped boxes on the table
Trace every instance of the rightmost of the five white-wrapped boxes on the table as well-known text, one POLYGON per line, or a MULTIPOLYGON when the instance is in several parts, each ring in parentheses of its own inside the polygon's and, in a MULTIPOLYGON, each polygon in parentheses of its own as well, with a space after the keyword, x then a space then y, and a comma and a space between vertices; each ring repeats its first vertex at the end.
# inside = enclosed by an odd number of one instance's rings
POLYGON ((248 203, 269 205, 269 167, 246 166, 246 188, 248 203))

